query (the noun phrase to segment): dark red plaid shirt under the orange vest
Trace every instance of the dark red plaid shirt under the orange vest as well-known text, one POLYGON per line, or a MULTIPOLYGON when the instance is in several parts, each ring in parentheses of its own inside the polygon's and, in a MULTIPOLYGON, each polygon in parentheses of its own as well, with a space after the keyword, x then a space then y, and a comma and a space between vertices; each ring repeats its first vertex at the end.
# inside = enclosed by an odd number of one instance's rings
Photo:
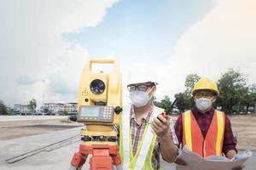
MULTIPOLYGON (((207 131, 212 122, 212 117, 214 113, 214 108, 210 111, 207 111, 205 114, 202 114, 196 107, 192 110, 193 115, 195 116, 195 120, 201 128, 201 133, 205 138, 207 136, 207 131)), ((178 143, 182 144, 183 142, 183 122, 182 116, 177 118, 177 122, 175 123, 175 132, 177 135, 178 143)), ((225 127, 224 127, 224 142, 222 151, 226 155, 229 150, 236 150, 236 142, 232 133, 230 119, 225 116, 225 127)), ((237 152, 237 150, 236 150, 237 152)))

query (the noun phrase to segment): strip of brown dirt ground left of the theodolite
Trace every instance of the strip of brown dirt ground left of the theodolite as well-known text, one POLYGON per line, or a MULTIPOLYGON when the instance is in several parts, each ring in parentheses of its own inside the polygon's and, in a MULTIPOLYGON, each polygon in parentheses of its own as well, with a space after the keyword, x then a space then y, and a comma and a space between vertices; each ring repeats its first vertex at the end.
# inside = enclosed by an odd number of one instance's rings
POLYGON ((83 126, 83 124, 68 122, 65 119, 0 122, 0 140, 15 139, 40 133, 50 133, 80 126, 83 126))

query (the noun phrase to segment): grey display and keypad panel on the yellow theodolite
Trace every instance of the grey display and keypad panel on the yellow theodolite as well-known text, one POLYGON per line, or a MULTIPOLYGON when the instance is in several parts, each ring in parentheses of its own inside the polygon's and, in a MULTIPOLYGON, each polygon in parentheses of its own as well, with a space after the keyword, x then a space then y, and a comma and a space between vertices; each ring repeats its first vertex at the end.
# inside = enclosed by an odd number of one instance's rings
POLYGON ((78 122, 113 122, 113 106, 83 105, 79 108, 78 122))

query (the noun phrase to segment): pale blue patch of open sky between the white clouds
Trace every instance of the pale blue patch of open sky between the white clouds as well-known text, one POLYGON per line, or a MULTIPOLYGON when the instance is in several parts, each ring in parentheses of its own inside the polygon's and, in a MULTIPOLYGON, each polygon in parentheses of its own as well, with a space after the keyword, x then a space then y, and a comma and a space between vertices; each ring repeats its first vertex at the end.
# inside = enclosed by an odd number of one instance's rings
POLYGON ((161 62, 172 57, 181 34, 213 6, 212 0, 120 1, 96 27, 64 37, 79 42, 93 57, 161 62))

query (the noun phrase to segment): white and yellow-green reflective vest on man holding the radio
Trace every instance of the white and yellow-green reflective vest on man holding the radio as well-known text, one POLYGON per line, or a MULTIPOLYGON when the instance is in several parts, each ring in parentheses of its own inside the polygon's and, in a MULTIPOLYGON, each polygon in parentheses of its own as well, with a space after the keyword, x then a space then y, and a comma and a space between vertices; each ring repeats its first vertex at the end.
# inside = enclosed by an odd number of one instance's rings
POLYGON ((120 143, 119 143, 119 152, 122 159, 122 166, 124 170, 150 170, 154 169, 152 166, 152 156, 153 150, 156 143, 156 135, 152 129, 149 122, 152 122, 154 117, 157 117, 162 109, 154 107, 152 116, 147 122, 147 125, 144 129, 143 138, 140 141, 140 144, 137 149, 137 153, 134 156, 132 153, 131 145, 131 127, 130 127, 130 111, 131 105, 127 108, 125 107, 122 114, 122 122, 120 123, 120 143))

